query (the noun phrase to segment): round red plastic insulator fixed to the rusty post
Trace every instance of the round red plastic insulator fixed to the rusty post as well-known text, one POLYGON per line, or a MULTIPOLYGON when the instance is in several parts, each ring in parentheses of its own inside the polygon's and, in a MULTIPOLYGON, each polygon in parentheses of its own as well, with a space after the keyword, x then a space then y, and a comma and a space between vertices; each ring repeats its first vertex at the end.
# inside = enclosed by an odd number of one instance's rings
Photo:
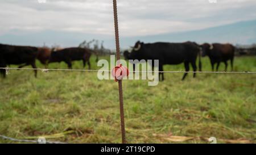
POLYGON ((115 82, 117 82, 118 80, 122 80, 123 77, 129 76, 129 70, 125 66, 122 66, 122 64, 119 64, 112 70, 112 76, 115 78, 115 82))

